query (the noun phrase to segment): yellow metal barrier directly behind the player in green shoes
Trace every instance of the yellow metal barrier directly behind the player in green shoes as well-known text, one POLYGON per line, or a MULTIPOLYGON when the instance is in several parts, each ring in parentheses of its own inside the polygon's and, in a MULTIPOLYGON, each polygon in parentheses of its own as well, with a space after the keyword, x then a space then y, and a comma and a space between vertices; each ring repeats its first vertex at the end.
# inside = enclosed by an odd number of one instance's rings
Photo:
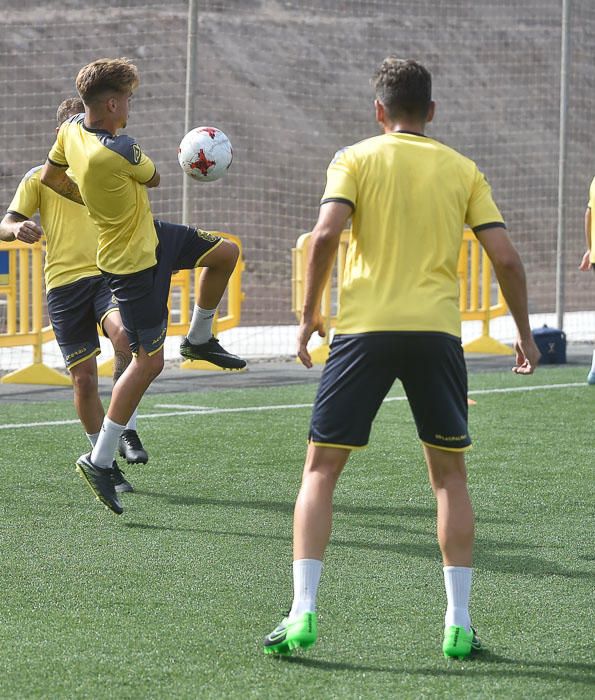
MULTIPOLYGON (((339 309, 338 290, 343 281, 345 257, 349 244, 350 231, 343 231, 337 251, 337 259, 331 277, 322 295, 321 312, 324 318, 326 336, 323 344, 315 348, 310 355, 313 362, 326 362, 329 354, 329 331, 334 328, 339 309)), ((302 234, 295 248, 292 249, 291 308, 298 321, 301 317, 306 280, 306 264, 310 247, 311 233, 302 234)), ((511 355, 508 345, 490 337, 490 320, 506 314, 507 307, 502 291, 493 278, 490 260, 482 250, 473 231, 465 229, 463 243, 458 261, 460 282, 459 308, 463 321, 481 321, 482 333, 479 338, 463 345, 465 352, 477 352, 492 355, 511 355), (497 296, 496 303, 491 303, 493 288, 497 296)))

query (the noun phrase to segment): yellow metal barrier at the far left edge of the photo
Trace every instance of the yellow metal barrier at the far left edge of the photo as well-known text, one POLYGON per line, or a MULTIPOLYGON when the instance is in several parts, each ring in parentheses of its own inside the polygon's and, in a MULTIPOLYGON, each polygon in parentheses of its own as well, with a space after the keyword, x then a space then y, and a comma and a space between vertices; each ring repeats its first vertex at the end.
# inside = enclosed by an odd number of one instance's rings
POLYGON ((68 386, 70 377, 42 361, 43 343, 54 337, 51 326, 42 325, 42 244, 2 242, 0 255, 8 256, 8 271, 0 284, 0 297, 6 300, 6 331, 0 333, 0 348, 31 345, 33 354, 32 364, 4 375, 0 382, 68 386))

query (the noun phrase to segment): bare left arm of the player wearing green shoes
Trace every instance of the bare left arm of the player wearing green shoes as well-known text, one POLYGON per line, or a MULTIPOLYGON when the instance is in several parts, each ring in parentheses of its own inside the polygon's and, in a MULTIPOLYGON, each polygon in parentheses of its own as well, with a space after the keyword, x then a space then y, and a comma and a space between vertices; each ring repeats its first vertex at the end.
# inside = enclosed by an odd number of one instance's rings
POLYGON ((312 231, 306 267, 304 307, 297 339, 297 354, 306 367, 312 367, 312 358, 307 349, 308 340, 314 331, 318 331, 320 336, 325 334, 320 315, 320 301, 337 255, 341 233, 351 213, 351 207, 344 202, 326 202, 320 207, 318 221, 312 231))

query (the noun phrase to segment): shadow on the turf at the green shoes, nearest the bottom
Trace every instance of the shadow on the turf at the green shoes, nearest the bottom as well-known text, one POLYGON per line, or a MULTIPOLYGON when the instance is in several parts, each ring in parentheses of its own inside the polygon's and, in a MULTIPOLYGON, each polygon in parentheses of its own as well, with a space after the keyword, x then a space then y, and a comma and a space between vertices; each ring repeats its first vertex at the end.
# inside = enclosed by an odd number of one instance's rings
POLYGON ((354 664, 344 661, 326 661, 311 659, 307 656, 278 657, 279 663, 295 664, 320 671, 357 671, 365 673, 403 673, 419 676, 512 676, 515 678, 534 678, 542 681, 568 681, 581 685, 592 685, 595 665, 575 662, 524 661, 511 659, 484 650, 481 654, 460 662, 444 660, 444 668, 411 666, 374 666, 372 664, 354 664), (464 663, 465 666, 461 667, 464 663))

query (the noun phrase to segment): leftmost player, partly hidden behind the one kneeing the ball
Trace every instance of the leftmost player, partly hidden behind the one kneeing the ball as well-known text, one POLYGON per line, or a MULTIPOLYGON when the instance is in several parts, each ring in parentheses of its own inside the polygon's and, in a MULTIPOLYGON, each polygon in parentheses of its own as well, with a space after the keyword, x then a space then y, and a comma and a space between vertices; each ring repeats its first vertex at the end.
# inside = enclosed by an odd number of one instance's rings
MULTIPOLYGON (((84 111, 80 98, 64 100, 58 127, 84 111)), ((0 240, 35 243, 45 234, 45 288, 48 312, 64 362, 72 376, 74 404, 92 445, 104 418, 97 386, 97 325, 114 346, 114 383, 132 354, 118 305, 97 269, 97 229, 84 206, 69 202, 40 181, 41 165, 22 179, 0 222, 0 240), (31 217, 39 211, 41 226, 31 217)), ((119 450, 130 463, 146 463, 148 455, 136 432, 136 411, 120 436, 119 450)), ((131 491, 114 462, 116 490, 131 491)))

